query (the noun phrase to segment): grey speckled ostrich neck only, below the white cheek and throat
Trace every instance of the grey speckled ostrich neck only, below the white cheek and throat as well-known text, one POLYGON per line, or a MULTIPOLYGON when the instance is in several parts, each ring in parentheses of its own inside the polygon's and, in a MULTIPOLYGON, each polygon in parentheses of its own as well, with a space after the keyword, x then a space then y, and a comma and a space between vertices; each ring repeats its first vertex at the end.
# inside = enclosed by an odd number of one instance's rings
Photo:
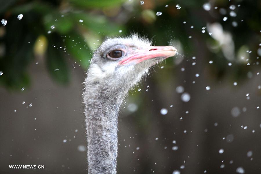
POLYGON ((120 105, 128 89, 88 84, 84 92, 88 139, 88 173, 116 173, 120 105))

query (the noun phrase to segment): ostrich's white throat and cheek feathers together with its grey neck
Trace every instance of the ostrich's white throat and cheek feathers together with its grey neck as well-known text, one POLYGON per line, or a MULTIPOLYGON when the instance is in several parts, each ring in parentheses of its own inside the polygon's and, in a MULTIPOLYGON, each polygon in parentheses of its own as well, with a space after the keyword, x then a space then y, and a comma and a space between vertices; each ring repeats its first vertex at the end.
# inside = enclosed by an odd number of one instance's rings
POLYGON ((113 75, 111 68, 102 70, 99 65, 91 62, 83 94, 89 174, 117 173, 119 109, 128 90, 148 73, 152 64, 125 66, 119 70, 123 72, 121 75, 113 75))

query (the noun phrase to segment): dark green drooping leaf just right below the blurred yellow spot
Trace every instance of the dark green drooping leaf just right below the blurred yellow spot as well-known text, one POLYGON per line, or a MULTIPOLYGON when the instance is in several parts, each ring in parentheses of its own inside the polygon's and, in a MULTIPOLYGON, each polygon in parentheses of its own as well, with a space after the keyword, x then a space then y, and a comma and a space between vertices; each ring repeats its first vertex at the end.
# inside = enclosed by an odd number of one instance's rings
POLYGON ((46 63, 51 77, 60 84, 68 84, 69 73, 66 61, 61 55, 60 48, 48 45, 46 63))

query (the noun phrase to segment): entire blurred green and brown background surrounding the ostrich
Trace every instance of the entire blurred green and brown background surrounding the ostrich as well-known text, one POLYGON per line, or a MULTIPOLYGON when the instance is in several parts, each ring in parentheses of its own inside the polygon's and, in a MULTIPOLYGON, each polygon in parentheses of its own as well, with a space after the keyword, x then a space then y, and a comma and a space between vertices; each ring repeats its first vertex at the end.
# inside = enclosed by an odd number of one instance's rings
POLYGON ((0 173, 87 173, 82 82, 133 32, 179 53, 123 104, 118 173, 261 173, 261 1, 0 4, 0 173))

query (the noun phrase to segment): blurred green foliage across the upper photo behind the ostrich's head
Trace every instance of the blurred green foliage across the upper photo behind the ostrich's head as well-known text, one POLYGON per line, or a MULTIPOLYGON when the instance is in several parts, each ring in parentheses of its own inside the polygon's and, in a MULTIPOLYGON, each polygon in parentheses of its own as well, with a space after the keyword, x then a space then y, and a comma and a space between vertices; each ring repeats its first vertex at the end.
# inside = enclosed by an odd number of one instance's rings
MULTIPOLYGON (((183 50, 180 53, 184 54, 182 58, 185 59, 204 54, 206 63, 215 61, 215 64, 209 64, 213 77, 221 78, 224 74, 231 74, 233 78, 240 79, 246 76, 254 68, 247 66, 246 62, 255 66, 259 64, 256 60, 259 56, 256 50, 260 48, 261 28, 258 1, 216 1, 210 4, 210 11, 202 8, 204 3, 194 0, 147 0, 143 5, 135 0, 1 2, 0 17, 8 22, 6 26, 0 27, 0 71, 4 72, 0 76, 0 83, 9 89, 28 86, 28 66, 37 57, 45 57, 51 77, 61 84, 67 84, 67 55, 86 69, 91 51, 105 36, 124 35, 133 31, 149 38, 155 36, 157 45, 177 46, 177 41, 180 42, 183 50), (177 9, 176 4, 180 4, 181 9, 177 9), (236 17, 229 16, 229 12, 233 11, 229 9, 231 5, 236 7, 236 17), (214 9, 215 6, 218 9, 214 9), (157 11, 161 11, 162 15, 156 16, 157 11), (19 14, 23 14, 21 20, 17 19, 19 14), (223 21, 226 16, 228 20, 223 21), (234 59, 229 60, 224 56, 222 45, 208 35, 207 29, 201 33, 203 26, 213 22, 221 23, 223 30, 232 34, 236 55, 234 59), (232 22, 236 22, 237 26, 233 26, 232 22), (119 33, 119 30, 123 32, 119 33), (246 49, 253 51, 246 55, 249 60, 241 61, 240 56, 245 55, 246 49), (227 66, 229 62, 232 62, 232 68, 227 66)), ((167 60, 167 64, 173 64, 173 61, 167 60)))

